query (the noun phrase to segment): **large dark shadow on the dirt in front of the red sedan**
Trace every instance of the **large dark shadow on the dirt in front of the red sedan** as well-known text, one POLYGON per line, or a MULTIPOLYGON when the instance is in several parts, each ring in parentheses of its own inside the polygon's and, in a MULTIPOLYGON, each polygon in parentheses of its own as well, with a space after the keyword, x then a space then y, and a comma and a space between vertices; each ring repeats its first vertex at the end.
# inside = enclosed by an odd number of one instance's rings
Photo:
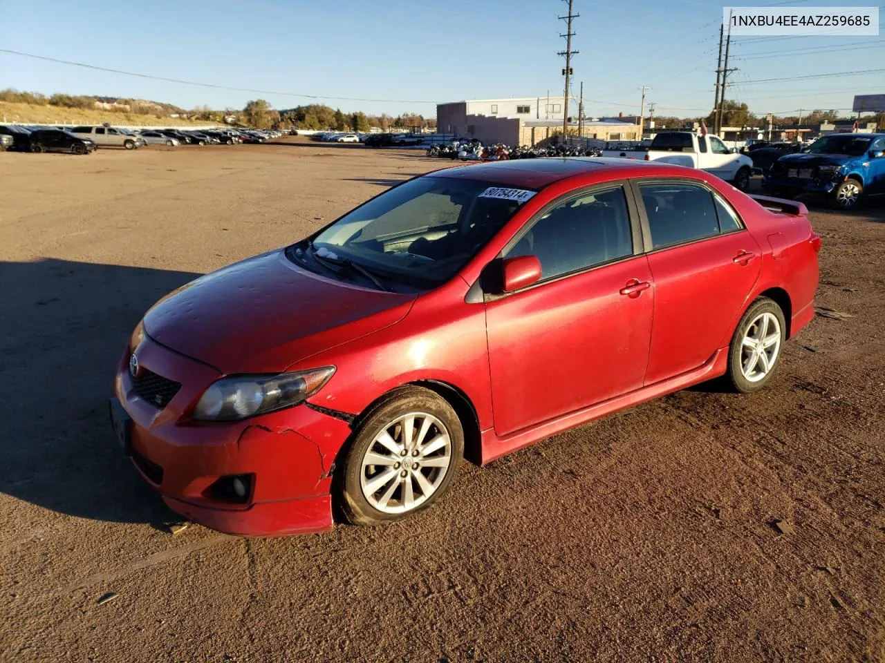
POLYGON ((107 402, 144 311, 197 276, 49 258, 0 263, 0 491, 99 521, 159 526, 172 515, 119 453, 107 402))

